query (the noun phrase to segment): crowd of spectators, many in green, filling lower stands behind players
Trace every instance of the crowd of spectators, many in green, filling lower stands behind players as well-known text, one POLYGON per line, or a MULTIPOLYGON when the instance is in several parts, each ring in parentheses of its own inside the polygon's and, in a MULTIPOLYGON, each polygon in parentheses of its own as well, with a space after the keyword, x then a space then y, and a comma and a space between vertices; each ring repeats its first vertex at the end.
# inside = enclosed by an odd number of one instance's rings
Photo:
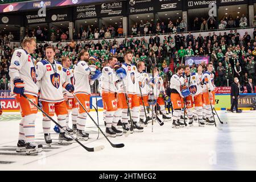
MULTIPOLYGON (((55 34, 53 30, 54 28, 51 31, 55 34)), ((107 29, 108 31, 110 28, 107 29)), ((41 33, 42 35, 44 34, 41 33)), ((218 35, 215 32, 209 32, 209 35, 204 37, 201 34, 195 37, 191 32, 187 36, 184 36, 183 32, 179 34, 175 32, 160 39, 156 34, 150 35, 149 40, 137 34, 129 38, 125 37, 121 42, 115 38, 106 40, 106 34, 102 35, 100 40, 72 40, 70 43, 59 41, 55 46, 55 59, 60 60, 62 56, 68 56, 72 63, 76 64, 79 61, 79 52, 86 49, 90 55, 97 57, 96 65, 101 69, 110 56, 115 56, 122 62, 124 53, 129 51, 134 55, 134 64, 144 61, 147 72, 151 71, 151 63, 155 64, 160 69, 160 76, 163 76, 167 82, 174 74, 175 67, 184 65, 184 56, 209 56, 214 65, 217 86, 230 85, 234 77, 238 77, 241 84, 247 84, 248 78, 252 78, 255 82, 256 28, 253 38, 247 32, 245 35, 240 35, 235 29, 218 35)), ((18 46, 0 43, 0 89, 6 89, 10 81, 8 68, 11 55, 18 46)), ((48 43, 39 43, 31 56, 37 61, 45 59, 46 46, 48 43)), ((192 65, 191 71, 196 72, 195 64, 192 65)))

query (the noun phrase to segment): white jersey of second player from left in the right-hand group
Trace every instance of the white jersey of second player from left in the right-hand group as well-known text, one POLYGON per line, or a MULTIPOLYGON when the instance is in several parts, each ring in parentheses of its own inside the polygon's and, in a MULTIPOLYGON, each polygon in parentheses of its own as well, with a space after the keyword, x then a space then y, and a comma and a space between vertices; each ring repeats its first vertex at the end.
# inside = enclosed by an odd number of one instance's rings
POLYGON ((185 76, 185 85, 189 88, 191 96, 197 96, 202 92, 200 76, 198 73, 191 73, 185 76))

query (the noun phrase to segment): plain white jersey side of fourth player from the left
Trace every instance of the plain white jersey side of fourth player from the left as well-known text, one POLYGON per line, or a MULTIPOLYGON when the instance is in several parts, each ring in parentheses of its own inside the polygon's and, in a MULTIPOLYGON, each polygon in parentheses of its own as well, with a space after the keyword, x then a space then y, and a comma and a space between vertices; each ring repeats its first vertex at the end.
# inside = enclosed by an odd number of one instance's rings
MULTIPOLYGON (((95 68, 96 69, 96 68, 95 68)), ((74 86, 75 94, 90 94, 90 85, 93 85, 94 81, 90 80, 90 72, 95 71, 89 67, 85 61, 79 61, 74 69, 74 86)))

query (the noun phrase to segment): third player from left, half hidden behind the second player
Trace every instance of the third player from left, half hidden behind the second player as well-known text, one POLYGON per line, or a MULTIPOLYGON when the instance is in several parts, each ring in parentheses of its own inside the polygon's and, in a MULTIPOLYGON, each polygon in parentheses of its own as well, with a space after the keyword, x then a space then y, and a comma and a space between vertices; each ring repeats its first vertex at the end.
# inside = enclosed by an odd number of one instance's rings
MULTIPOLYGON (((71 60, 68 57, 63 57, 61 59, 61 63, 63 65, 63 80, 65 82, 68 82, 69 84, 74 85, 74 74, 72 72, 71 69, 69 69, 69 67, 71 67, 71 60)), ((65 91, 65 89, 64 89, 65 91)), ((67 92, 67 91, 66 91, 67 92)), ((76 101, 76 99, 74 98, 72 93, 67 92, 67 109, 68 109, 68 114, 66 117, 66 130, 69 133, 76 133, 76 119, 77 119, 77 115, 78 115, 78 103, 76 101), (69 113, 71 113, 71 117, 72 117, 72 129, 69 128, 68 126, 68 122, 69 122, 69 113)))

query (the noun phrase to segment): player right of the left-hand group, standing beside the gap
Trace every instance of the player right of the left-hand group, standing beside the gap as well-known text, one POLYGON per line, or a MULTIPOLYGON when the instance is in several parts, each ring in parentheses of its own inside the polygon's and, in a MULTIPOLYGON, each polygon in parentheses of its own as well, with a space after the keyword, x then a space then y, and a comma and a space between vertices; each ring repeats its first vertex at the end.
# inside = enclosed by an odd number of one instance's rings
POLYGON ((159 76, 158 68, 153 69, 154 79, 150 77, 150 82, 154 84, 153 92, 154 97, 156 98, 157 104, 160 106, 160 111, 163 114, 163 121, 170 121, 171 117, 168 117, 166 114, 166 107, 164 101, 170 102, 170 97, 166 95, 166 90, 163 85, 163 78, 159 76))

